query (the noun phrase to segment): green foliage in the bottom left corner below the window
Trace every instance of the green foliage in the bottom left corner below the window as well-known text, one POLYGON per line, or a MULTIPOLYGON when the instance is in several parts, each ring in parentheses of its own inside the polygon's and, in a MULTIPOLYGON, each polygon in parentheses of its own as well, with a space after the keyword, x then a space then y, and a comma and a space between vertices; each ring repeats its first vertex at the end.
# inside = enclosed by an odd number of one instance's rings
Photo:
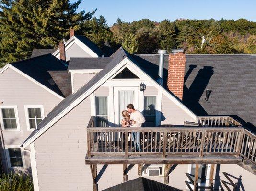
POLYGON ((32 179, 24 174, 10 173, 0 176, 0 191, 33 191, 32 179))

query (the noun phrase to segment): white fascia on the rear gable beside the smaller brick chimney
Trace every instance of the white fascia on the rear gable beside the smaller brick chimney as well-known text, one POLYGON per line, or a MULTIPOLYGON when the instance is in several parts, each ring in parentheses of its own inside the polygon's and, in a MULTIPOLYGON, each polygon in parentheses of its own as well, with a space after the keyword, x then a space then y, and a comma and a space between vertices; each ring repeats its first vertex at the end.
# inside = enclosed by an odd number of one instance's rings
MULTIPOLYGON (((93 58, 98 58, 98 54, 94 53, 92 49, 90 49, 86 44, 81 42, 78 38, 75 36, 72 36, 68 41, 65 42, 65 51, 67 51, 71 45, 77 44, 82 50, 84 50, 86 53, 90 54, 93 58)), ((53 53, 53 55, 58 58, 59 57, 59 48, 53 53)))

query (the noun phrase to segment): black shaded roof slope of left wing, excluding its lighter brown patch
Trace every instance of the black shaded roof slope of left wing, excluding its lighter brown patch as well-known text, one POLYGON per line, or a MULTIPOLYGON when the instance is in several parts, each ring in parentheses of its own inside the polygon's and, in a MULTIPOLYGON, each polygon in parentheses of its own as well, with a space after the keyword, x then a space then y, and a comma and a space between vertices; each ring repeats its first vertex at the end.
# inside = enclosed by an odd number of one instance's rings
POLYGON ((56 92, 58 95, 64 96, 48 71, 66 71, 67 67, 52 54, 37 56, 10 64, 35 79, 37 82, 56 92))

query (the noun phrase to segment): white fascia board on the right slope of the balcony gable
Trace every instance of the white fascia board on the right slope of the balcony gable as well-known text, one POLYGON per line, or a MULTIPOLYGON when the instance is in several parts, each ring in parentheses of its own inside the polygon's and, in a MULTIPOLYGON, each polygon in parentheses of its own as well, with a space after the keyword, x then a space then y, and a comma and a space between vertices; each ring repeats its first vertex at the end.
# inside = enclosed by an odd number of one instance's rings
MULTIPOLYGON (((155 80, 153 80, 148 74, 146 74, 143 70, 141 70, 136 64, 134 64, 130 59, 128 59, 127 63, 131 68, 133 68, 132 72, 136 74, 138 77, 142 77, 144 79, 149 79, 149 81, 154 85, 158 90, 160 90, 165 96, 167 96, 171 101, 173 101, 177 106, 183 109, 190 117, 196 120, 197 115, 195 115, 190 109, 188 109, 184 104, 182 104, 175 96, 171 95, 163 86, 159 85, 155 80), (140 71, 140 72, 139 72, 140 71)), ((129 69, 131 70, 131 68, 129 69)))

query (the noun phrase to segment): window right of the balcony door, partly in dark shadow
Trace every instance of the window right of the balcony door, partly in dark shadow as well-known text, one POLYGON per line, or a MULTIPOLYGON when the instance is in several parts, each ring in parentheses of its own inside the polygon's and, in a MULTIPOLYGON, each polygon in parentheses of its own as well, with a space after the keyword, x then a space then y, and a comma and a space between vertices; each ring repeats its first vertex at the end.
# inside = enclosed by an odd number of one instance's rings
POLYGON ((156 96, 144 96, 143 114, 146 122, 152 122, 155 126, 156 121, 156 96))

